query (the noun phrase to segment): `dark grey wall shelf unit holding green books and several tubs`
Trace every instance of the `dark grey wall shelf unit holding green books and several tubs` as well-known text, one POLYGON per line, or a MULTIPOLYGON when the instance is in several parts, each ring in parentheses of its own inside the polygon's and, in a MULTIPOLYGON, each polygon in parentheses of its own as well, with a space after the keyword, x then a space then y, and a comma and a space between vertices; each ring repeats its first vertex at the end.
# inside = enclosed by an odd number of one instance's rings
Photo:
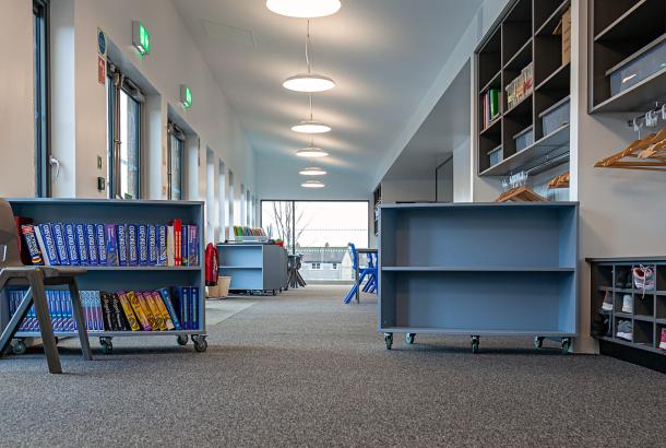
POLYGON ((571 0, 515 0, 500 14, 475 50, 476 81, 479 86, 478 175, 507 176, 548 163, 546 169, 569 158, 570 128, 544 135, 539 114, 570 95, 570 63, 562 64, 561 36, 552 34, 571 0), (534 91, 508 109, 506 87, 530 62, 534 62, 534 91), (500 116, 486 129, 483 94, 501 92, 500 116), (516 151, 513 137, 533 127, 535 143, 516 151), (490 166, 488 152, 502 149, 502 160, 490 166))

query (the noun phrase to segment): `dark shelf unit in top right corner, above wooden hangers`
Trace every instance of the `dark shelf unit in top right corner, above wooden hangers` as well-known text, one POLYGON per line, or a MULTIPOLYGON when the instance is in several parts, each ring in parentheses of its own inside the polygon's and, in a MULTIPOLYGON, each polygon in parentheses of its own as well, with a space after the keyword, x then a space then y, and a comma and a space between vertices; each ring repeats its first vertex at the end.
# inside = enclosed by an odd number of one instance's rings
POLYGON ((665 38, 665 0, 592 0, 590 113, 641 113, 666 99, 666 69, 613 96, 609 76, 665 38))

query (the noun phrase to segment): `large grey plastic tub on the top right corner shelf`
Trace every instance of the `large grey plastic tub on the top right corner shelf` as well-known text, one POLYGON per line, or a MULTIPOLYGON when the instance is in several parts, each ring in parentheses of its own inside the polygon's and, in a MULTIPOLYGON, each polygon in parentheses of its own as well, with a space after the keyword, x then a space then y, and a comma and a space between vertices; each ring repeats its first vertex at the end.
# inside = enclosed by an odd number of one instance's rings
POLYGON ((606 74, 610 75, 610 95, 615 96, 664 69, 666 69, 666 40, 646 49, 634 60, 608 70, 606 74))

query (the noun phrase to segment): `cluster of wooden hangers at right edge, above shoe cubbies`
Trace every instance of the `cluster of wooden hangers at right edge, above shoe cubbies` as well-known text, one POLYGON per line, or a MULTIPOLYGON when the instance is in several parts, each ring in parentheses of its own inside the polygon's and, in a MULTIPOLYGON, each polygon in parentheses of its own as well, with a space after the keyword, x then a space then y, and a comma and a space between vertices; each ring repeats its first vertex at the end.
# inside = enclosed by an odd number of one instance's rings
POLYGON ((625 150, 598 161, 594 166, 666 172, 666 128, 633 141, 625 150))

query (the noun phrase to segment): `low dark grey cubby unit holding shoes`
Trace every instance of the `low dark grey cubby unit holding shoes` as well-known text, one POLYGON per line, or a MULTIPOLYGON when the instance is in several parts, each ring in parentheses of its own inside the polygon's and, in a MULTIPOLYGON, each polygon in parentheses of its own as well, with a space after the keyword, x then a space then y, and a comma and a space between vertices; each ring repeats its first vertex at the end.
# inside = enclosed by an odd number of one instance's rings
MULTIPOLYGON (((666 351, 659 349, 662 329, 666 328, 666 257, 602 258, 587 259, 587 261, 591 263, 592 273, 592 319, 594 320, 602 314, 609 318, 610 325, 607 333, 592 334, 592 337, 603 341, 605 346, 617 344, 623 349, 647 352, 650 353, 649 356, 656 359, 657 364, 662 364, 664 372, 666 372, 666 351), (643 293, 642 290, 635 287, 616 286, 618 273, 629 272, 637 266, 656 266, 655 291, 643 293), (607 292, 614 295, 613 310, 602 309, 604 296, 607 292), (622 311, 622 300, 627 294, 633 297, 632 313, 622 311), (630 320, 633 323, 632 341, 617 337, 617 325, 620 320, 630 320)), ((649 365, 649 367, 654 366, 649 365)))

